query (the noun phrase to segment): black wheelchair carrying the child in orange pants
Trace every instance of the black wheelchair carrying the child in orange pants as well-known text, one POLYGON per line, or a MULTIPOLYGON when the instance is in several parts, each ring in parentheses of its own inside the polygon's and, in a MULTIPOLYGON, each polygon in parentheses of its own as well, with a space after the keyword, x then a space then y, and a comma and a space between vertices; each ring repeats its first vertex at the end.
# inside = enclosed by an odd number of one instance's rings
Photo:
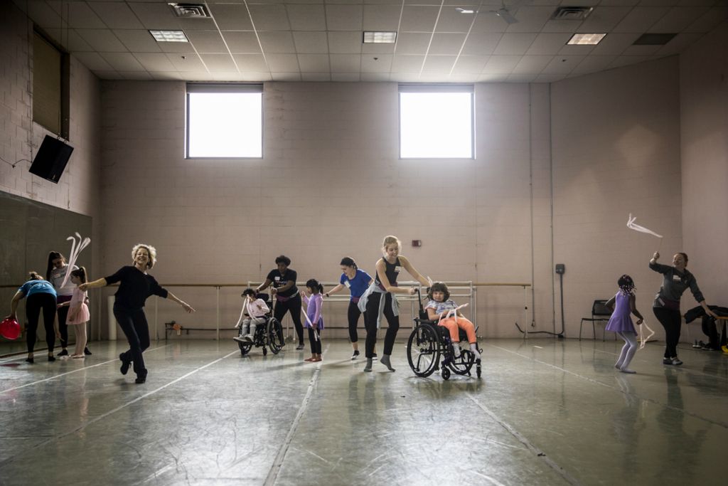
MULTIPOLYGON (((470 374, 472 365, 475 364, 475 373, 480 378, 480 359, 470 350, 461 350, 459 358, 454 356, 453 343, 450 340, 450 332, 444 326, 438 326, 437 321, 430 321, 427 311, 422 307, 422 296, 417 289, 419 297, 419 318, 414 318, 416 326, 412 329, 407 341, 407 361, 415 375, 428 377, 438 369, 443 380, 450 378, 451 372, 456 375, 470 374), (440 358, 442 365, 440 366, 440 358)), ((477 331, 478 328, 475 328, 477 331)), ((459 339, 467 340, 467 335, 459 329, 459 339)), ((483 350, 478 350, 482 353, 483 350)))

